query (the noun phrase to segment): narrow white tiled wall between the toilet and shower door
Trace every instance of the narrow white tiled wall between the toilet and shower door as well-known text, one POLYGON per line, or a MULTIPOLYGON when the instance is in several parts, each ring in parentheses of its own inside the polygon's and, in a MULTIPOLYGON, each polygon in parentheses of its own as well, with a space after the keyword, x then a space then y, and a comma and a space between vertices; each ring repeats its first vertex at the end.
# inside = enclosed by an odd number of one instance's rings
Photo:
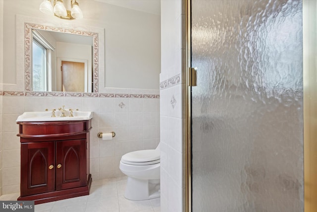
POLYGON ((161 211, 185 210, 185 0, 161 0, 161 211))

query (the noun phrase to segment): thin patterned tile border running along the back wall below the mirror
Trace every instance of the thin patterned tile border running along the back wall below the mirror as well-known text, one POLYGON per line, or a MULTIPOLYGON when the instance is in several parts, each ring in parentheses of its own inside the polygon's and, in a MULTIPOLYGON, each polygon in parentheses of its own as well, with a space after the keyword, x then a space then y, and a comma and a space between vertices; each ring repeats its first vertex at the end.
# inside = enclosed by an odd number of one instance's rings
POLYGON ((0 96, 34 96, 34 97, 95 97, 95 98, 144 98, 159 99, 159 94, 126 93, 81 93, 81 92, 45 92, 45 91, 0 91, 0 96))

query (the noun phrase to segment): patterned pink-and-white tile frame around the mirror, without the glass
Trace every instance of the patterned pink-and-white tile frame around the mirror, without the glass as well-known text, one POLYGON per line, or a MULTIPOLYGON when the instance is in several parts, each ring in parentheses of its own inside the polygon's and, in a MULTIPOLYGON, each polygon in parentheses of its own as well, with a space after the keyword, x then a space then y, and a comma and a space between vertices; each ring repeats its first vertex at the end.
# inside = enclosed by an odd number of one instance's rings
POLYGON ((68 29, 54 26, 46 26, 35 23, 24 23, 24 85, 25 90, 32 91, 32 60, 31 60, 31 44, 32 44, 32 29, 42 29, 46 31, 62 32, 76 35, 91 36, 93 38, 93 92, 99 92, 99 35, 96 32, 81 31, 77 29, 68 29))

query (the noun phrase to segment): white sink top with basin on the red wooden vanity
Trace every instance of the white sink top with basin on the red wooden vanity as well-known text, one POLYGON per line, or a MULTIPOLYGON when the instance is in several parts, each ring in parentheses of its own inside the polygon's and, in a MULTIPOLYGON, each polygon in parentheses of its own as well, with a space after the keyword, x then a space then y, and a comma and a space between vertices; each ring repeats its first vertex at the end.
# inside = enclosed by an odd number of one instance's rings
POLYGON ((52 117, 52 111, 24 112, 18 116, 16 122, 80 121, 93 118, 93 112, 90 111, 73 111, 73 117, 70 117, 69 114, 68 110, 65 113, 66 117, 60 117, 61 112, 58 110, 55 111, 56 117, 52 117))

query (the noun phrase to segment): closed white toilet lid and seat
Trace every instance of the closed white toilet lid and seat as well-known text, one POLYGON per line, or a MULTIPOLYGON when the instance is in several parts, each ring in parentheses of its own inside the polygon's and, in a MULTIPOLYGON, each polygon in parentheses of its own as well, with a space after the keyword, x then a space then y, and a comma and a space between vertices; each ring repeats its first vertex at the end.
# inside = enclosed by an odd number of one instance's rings
POLYGON ((121 161, 131 165, 151 165, 159 163, 159 151, 155 149, 132 151, 123 155, 121 161))

